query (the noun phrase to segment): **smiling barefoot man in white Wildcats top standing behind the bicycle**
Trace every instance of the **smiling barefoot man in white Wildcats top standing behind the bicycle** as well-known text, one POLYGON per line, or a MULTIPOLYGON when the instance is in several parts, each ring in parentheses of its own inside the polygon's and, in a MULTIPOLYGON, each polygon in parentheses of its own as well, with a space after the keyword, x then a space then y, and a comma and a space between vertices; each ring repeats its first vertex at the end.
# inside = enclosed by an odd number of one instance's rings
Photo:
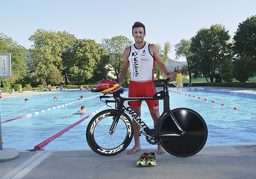
MULTIPOLYGON (((144 42, 146 36, 145 26, 140 22, 135 22, 132 26, 132 36, 135 43, 124 49, 124 66, 120 74, 119 83, 122 85, 127 75, 130 66, 130 84, 129 84, 129 97, 152 97, 156 93, 154 86, 154 63, 156 62, 160 70, 169 78, 169 82, 174 81, 176 78, 172 76, 165 64, 162 62, 158 48, 155 44, 144 42)), ((166 79, 165 78, 165 79, 166 79)), ((132 101, 130 106, 138 114, 141 115, 142 101, 132 101)), ((150 114, 153 118, 154 125, 160 117, 158 109, 158 100, 146 101, 150 114)), ((134 125, 134 147, 128 151, 128 154, 133 154, 140 150, 140 126, 136 121, 132 120, 134 125)), ((160 143, 158 143, 158 155, 164 154, 165 151, 160 143)))

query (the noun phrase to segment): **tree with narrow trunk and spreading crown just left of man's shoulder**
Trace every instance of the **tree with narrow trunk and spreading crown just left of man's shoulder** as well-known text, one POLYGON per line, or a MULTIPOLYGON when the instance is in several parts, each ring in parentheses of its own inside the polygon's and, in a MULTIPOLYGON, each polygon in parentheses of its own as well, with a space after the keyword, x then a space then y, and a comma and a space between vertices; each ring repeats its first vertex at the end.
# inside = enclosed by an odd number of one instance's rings
POLYGON ((116 81, 119 81, 119 76, 124 65, 124 49, 132 44, 132 41, 125 36, 115 36, 111 39, 104 38, 102 46, 108 52, 109 64, 114 70, 116 81))

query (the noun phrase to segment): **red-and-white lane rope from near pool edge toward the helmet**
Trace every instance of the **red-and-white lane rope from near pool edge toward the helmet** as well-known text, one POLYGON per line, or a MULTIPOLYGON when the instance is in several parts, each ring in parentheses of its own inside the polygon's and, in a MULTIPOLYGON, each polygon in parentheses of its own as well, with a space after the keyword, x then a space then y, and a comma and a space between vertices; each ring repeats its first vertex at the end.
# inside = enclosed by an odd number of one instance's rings
MULTIPOLYGON (((128 92, 126 92, 128 93, 128 92)), ((126 93, 124 93, 123 95, 125 95, 126 93)), ((123 96, 122 95, 122 96, 123 96)), ((108 105, 110 105, 111 103, 108 103, 108 105)), ((40 150, 42 149, 44 146, 46 146, 48 143, 50 143, 51 141, 53 141, 54 139, 56 139, 57 137, 60 137, 63 133, 65 133, 66 131, 68 131, 69 129, 72 129, 73 127, 75 127, 76 125, 80 124, 82 121, 84 121, 85 119, 87 119, 88 117, 95 115, 96 113, 98 113, 99 111, 101 111, 102 109, 104 109, 104 107, 106 107, 106 105, 104 105, 103 107, 101 107, 100 109, 94 111, 93 113, 90 113, 89 115, 87 115, 86 117, 84 117, 83 119, 77 121, 76 123, 70 125, 69 127, 67 127, 66 129, 56 133, 55 135, 53 135, 52 137, 46 139, 45 141, 39 143, 38 145, 36 145, 34 147, 34 149, 30 150, 30 151, 36 151, 36 150, 40 150)))

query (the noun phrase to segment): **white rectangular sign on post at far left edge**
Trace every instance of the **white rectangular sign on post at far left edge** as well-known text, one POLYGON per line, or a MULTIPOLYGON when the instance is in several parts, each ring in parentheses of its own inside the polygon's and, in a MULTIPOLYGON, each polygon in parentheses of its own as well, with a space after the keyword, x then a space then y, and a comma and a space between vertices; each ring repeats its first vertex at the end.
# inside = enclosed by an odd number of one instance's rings
POLYGON ((0 54, 0 77, 12 77, 11 54, 0 54))

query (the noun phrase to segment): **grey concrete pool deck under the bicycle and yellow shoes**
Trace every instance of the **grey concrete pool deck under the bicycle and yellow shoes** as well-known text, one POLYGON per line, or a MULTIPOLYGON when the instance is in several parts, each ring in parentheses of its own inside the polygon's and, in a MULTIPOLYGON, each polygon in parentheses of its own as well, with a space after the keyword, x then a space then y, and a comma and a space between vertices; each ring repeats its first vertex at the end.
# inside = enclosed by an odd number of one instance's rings
MULTIPOLYGON (((0 151, 1 152, 1 151, 0 151)), ((205 146, 191 157, 156 155, 156 166, 136 166, 144 147, 133 155, 110 157, 91 150, 20 151, 12 161, 0 163, 0 179, 255 179, 256 145, 205 146)))

